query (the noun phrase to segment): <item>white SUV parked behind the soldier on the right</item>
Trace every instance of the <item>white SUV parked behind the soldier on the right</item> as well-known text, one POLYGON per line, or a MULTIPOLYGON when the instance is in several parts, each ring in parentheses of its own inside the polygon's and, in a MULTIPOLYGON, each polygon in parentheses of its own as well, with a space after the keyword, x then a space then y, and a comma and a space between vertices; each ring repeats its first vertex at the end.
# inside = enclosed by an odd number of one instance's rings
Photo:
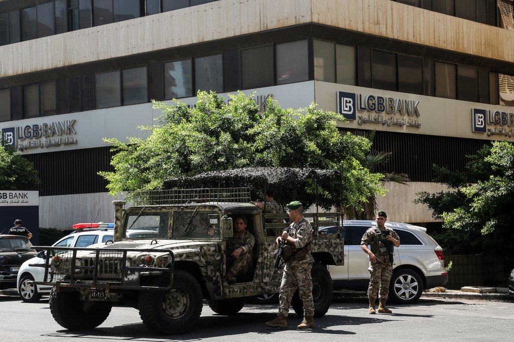
MULTIPOLYGON (((329 266, 334 290, 366 291, 370 282, 369 258, 360 246, 362 235, 375 221, 344 220, 344 265, 329 266)), ((389 298, 397 303, 412 303, 423 289, 444 286, 448 273, 443 249, 428 235, 427 229, 407 223, 386 222, 400 237, 394 248, 393 277, 389 298)), ((320 234, 336 233, 336 227, 320 228, 320 234)))

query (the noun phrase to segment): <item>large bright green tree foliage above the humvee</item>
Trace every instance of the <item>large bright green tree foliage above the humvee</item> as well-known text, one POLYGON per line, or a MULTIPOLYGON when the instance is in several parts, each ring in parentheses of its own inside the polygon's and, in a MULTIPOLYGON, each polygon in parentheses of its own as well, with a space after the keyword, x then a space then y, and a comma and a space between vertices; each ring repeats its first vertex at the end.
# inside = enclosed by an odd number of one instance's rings
POLYGON ((344 121, 342 116, 315 104, 283 109, 271 100, 261 114, 253 94, 229 97, 225 104, 214 92, 200 92, 193 108, 179 101, 176 106, 155 102, 162 116, 158 125, 141 127, 147 138, 128 138, 128 143, 106 139, 116 152, 115 172, 100 173, 109 181, 109 191, 158 189, 164 180, 178 176, 275 166, 339 170, 343 203, 356 209, 369 196, 384 195, 382 175, 359 162, 369 153, 370 141, 341 134, 336 120, 344 121))

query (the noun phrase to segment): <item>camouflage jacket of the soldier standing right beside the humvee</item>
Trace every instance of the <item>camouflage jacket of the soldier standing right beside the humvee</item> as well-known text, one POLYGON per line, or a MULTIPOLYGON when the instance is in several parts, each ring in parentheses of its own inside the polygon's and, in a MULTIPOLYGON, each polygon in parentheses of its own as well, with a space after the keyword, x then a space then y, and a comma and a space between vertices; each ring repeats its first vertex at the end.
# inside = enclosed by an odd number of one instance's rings
MULTIPOLYGON (((285 229, 290 237, 295 239, 294 246, 287 246, 290 252, 294 253, 297 248, 302 248, 312 240, 313 227, 310 225, 304 217, 300 219, 298 224, 292 222, 288 229, 285 229)), ((309 263, 314 263, 313 257, 310 255, 310 251, 313 250, 312 244, 305 246, 300 252, 292 256, 287 262, 286 266, 305 266, 309 263)), ((289 255, 286 252, 286 255, 289 255)))

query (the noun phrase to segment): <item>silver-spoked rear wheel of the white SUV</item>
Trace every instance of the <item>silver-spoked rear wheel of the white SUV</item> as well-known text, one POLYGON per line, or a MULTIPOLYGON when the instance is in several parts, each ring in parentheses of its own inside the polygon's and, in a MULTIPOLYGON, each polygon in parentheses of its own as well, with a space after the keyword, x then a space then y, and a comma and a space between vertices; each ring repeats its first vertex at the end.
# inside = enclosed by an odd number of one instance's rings
POLYGON ((389 286, 389 298, 397 304, 410 304, 421 297, 423 281, 412 270, 398 270, 393 273, 389 286))

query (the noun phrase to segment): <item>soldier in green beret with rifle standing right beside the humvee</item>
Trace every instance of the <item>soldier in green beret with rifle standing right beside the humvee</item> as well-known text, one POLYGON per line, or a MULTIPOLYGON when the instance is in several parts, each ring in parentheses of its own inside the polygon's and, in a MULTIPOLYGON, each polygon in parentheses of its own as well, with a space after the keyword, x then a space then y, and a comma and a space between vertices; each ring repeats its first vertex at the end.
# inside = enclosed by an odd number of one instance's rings
POLYGON ((314 328, 314 302, 313 302, 313 280, 310 276, 310 269, 314 263, 310 251, 313 249, 311 238, 313 235, 313 227, 303 217, 303 206, 298 201, 287 204, 289 218, 292 221, 287 230, 284 230, 282 236, 277 238, 277 244, 282 240, 287 241, 284 248, 284 259, 288 259, 284 273, 282 274, 282 283, 280 284, 280 305, 277 318, 266 325, 273 328, 287 328, 287 314, 291 299, 296 289, 303 300, 304 316, 298 329, 314 328))

